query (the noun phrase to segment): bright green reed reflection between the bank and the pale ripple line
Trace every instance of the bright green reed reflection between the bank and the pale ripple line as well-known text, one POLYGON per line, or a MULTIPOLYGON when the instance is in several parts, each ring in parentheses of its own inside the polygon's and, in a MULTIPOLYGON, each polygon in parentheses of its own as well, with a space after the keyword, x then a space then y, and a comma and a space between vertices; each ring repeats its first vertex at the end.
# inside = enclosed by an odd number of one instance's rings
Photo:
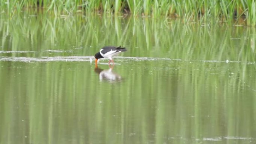
MULTIPOLYGON (((174 59, 255 62, 255 28, 186 23, 133 16, 1 15, 0 50, 30 51, 3 56, 54 56, 47 50, 71 50, 61 56, 92 56, 106 45, 122 45, 125 55, 174 59), (74 53, 75 52, 75 53, 74 53)), ((60 53, 58 53, 60 55, 60 53)))

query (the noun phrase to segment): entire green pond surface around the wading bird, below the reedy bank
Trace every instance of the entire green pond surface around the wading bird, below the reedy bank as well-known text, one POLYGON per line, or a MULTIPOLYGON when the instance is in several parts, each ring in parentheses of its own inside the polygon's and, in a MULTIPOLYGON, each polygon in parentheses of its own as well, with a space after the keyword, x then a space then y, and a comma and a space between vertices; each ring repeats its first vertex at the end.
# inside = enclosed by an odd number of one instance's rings
POLYGON ((253 28, 0 16, 0 144, 256 143, 253 28))

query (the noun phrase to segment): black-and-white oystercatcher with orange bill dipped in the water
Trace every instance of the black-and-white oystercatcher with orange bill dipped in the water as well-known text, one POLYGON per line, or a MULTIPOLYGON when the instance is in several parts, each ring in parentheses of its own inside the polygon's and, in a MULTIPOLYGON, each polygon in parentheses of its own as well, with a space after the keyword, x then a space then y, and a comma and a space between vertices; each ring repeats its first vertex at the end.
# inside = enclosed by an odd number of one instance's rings
POLYGON ((127 49, 121 48, 121 46, 119 46, 119 47, 105 46, 100 49, 100 52, 98 52, 94 55, 95 64, 97 64, 97 61, 99 58, 109 58, 109 64, 110 64, 110 62, 113 62, 113 64, 114 64, 114 60, 112 59, 112 57, 117 55, 120 52, 125 52, 125 51, 127 51, 127 49))

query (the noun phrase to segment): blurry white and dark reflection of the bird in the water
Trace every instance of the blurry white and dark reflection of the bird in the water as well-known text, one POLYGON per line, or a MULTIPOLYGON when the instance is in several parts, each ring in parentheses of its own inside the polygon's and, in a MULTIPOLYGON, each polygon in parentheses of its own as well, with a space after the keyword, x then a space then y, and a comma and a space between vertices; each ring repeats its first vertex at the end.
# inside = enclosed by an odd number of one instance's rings
POLYGON ((115 72, 113 72, 114 65, 109 65, 109 69, 104 70, 98 67, 95 64, 94 71, 98 73, 100 76, 100 81, 108 81, 108 82, 120 82, 122 80, 121 76, 115 72))

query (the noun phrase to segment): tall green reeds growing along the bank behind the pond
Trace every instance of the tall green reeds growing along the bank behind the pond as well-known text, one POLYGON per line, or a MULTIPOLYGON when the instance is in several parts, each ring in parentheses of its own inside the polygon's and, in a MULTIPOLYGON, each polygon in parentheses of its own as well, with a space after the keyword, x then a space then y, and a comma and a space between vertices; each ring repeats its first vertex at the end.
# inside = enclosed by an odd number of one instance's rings
POLYGON ((184 21, 244 22, 256 25, 254 0, 0 0, 2 13, 40 10, 55 15, 108 13, 182 18, 184 21))

